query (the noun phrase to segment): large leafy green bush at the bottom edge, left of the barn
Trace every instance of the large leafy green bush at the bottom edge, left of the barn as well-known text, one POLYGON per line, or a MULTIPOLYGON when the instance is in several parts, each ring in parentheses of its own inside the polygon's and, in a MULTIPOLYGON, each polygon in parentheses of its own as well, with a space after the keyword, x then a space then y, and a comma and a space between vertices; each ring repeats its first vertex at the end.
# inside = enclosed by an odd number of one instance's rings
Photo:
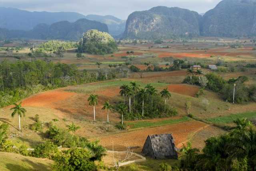
POLYGON ((96 171, 92 152, 86 149, 69 149, 54 159, 54 171, 96 171))

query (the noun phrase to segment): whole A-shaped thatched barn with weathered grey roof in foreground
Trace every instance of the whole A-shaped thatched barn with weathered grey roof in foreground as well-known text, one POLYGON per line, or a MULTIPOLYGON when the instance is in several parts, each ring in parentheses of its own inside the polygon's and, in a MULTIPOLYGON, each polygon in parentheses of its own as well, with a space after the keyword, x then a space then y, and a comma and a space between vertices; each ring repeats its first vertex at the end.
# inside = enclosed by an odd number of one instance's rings
POLYGON ((153 159, 178 159, 172 134, 149 135, 142 154, 153 159))

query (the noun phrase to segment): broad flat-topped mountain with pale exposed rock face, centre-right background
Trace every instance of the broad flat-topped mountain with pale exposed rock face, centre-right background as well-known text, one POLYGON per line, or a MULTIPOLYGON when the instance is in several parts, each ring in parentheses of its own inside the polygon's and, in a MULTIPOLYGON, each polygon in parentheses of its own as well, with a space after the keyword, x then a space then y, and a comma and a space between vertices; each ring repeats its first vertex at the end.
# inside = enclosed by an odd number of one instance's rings
POLYGON ((148 11, 130 14, 124 37, 159 38, 200 34, 200 16, 182 8, 154 7, 148 11))

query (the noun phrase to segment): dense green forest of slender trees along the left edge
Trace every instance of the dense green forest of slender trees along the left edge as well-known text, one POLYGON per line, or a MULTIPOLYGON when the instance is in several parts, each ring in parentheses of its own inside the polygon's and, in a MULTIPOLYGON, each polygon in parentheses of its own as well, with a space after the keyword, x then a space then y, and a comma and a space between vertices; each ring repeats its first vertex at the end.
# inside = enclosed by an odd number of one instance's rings
MULTIPOLYGON (((0 106, 6 106, 31 94, 68 85, 105 80, 99 73, 79 71, 76 65, 42 60, 0 63, 0 106)), ((111 79, 111 77, 108 77, 111 79)))

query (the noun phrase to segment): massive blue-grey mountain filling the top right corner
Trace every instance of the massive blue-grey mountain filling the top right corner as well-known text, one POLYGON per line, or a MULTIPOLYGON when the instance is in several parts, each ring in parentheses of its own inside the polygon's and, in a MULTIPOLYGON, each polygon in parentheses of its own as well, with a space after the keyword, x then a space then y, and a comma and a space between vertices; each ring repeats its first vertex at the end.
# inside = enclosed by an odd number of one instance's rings
POLYGON ((204 14, 201 35, 218 37, 256 35, 256 0, 223 0, 204 14))

